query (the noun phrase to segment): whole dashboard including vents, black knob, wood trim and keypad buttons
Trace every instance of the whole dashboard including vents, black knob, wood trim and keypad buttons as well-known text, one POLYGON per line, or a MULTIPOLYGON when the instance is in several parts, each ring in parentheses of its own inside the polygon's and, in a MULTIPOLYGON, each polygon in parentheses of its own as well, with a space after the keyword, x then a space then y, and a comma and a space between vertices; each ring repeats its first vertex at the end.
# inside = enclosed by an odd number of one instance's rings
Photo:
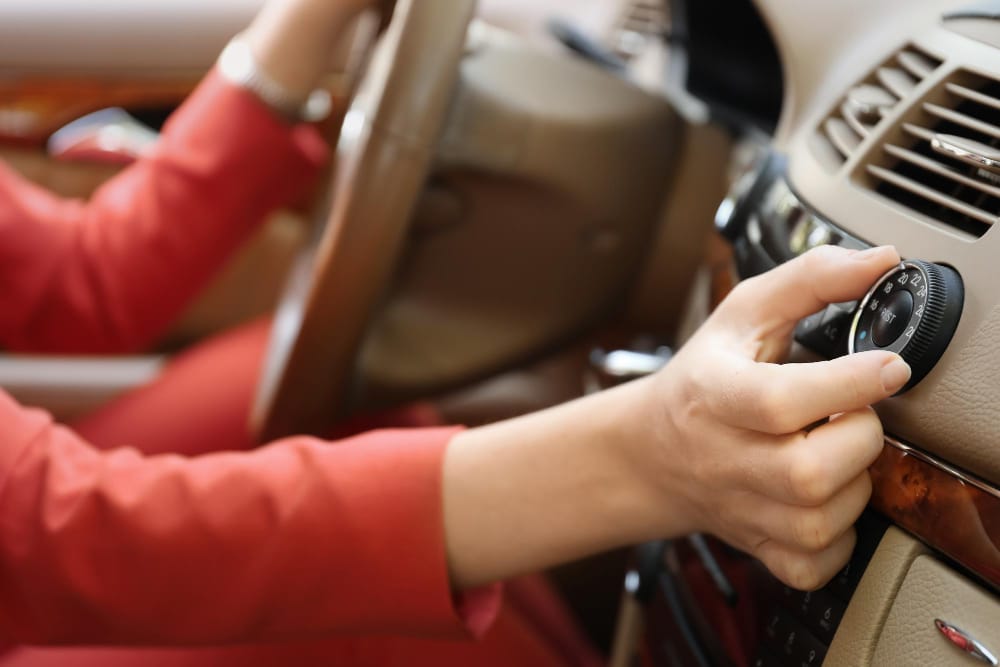
POLYGON ((755 5, 780 57, 782 103, 772 135, 745 134, 752 157, 717 214, 735 277, 818 245, 895 245, 904 263, 864 298, 800 323, 792 361, 889 349, 914 379, 876 406, 887 446, 845 572, 803 594, 724 548, 668 545, 649 651, 654 664, 728 664, 732 628, 719 619, 735 615, 756 628, 761 667, 995 665, 1000 2, 755 5), (705 608, 693 572, 728 610, 705 608), (752 612, 735 602, 741 582, 752 612))

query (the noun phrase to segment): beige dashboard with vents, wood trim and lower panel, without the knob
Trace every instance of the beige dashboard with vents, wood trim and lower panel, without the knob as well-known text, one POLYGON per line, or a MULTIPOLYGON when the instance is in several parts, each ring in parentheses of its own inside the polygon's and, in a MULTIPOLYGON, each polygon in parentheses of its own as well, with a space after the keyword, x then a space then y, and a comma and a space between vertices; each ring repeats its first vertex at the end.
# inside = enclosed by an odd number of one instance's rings
POLYGON ((1000 648, 1000 163, 983 161, 1000 144, 1000 3, 755 4, 784 68, 771 148, 804 215, 964 282, 943 356, 876 406, 891 446, 872 506, 895 526, 824 664, 975 664, 937 624, 1000 648), (956 137, 969 152, 952 150, 956 137))

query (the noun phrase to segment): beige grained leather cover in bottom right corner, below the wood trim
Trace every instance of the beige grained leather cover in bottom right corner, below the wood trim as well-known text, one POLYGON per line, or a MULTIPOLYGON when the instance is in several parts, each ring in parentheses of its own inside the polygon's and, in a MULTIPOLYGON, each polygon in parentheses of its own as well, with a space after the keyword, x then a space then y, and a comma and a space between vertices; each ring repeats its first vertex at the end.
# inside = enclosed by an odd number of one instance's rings
POLYGON ((875 649, 873 664, 983 664, 953 646, 934 627, 940 618, 1000 655, 1000 600, 930 556, 913 563, 875 649))

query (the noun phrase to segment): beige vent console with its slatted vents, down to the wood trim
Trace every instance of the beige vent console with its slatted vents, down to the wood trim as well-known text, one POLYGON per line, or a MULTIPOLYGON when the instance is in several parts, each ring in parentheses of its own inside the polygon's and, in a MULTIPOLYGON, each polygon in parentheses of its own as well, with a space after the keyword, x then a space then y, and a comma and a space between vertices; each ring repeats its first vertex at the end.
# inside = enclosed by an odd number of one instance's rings
POLYGON ((996 483, 1000 293, 992 285, 1000 240, 991 227, 1000 191, 988 168, 944 155, 934 144, 967 137, 988 147, 1000 135, 993 89, 1000 78, 1000 22, 945 19, 939 7, 929 8, 925 27, 895 43, 886 40, 839 94, 814 102, 787 128, 788 181, 853 236, 894 244, 904 257, 945 264, 962 276, 962 317, 941 362, 913 391, 880 406, 880 414, 887 431, 996 483), (879 107, 876 122, 850 115, 854 91, 885 90, 880 73, 906 71, 912 56, 921 61, 910 75, 913 85, 879 107), (851 123, 864 134, 838 148, 837 128, 851 123))

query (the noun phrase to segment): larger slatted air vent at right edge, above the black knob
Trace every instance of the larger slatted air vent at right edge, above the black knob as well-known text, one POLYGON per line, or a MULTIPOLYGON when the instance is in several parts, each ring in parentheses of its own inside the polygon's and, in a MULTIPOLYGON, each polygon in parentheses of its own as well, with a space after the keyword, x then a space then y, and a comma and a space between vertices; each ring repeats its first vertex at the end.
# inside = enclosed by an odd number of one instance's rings
POLYGON ((866 166, 879 194, 978 238, 1000 214, 1000 82, 956 72, 866 166))

